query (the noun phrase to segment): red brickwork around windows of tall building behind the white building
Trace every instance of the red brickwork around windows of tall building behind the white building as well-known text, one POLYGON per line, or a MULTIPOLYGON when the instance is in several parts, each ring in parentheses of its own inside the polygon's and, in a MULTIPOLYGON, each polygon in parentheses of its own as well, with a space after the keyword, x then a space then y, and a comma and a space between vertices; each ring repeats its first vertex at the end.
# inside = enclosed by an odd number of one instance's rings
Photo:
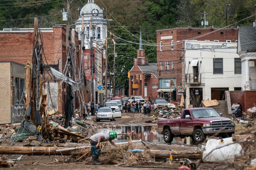
MULTIPOLYGON (((177 85, 183 84, 182 73, 182 52, 183 52, 183 40, 198 40, 198 41, 214 41, 226 42, 231 40, 235 42, 238 40, 238 29, 226 28, 220 29, 214 28, 173 28, 162 29, 156 31, 156 47, 157 53, 157 69, 160 69, 160 62, 163 62, 163 70, 161 76, 158 78, 176 78, 177 85), (202 36, 204 34, 208 35, 202 36), (174 41, 173 50, 171 48, 171 40, 174 41), (160 51, 160 41, 162 41, 162 51, 160 51), (170 69, 165 70, 165 61, 169 61, 170 69), (174 69, 171 69, 171 61, 174 61, 174 69)), ((176 95, 177 99, 180 99, 180 95, 176 95)))

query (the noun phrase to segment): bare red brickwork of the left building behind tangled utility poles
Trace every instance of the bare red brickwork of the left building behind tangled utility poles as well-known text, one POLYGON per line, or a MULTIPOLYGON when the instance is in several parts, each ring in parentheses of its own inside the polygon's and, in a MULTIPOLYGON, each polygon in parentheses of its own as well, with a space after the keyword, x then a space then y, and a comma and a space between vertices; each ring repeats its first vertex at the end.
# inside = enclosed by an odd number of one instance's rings
MULTIPOLYGON (((42 58, 44 69, 44 82, 53 82, 54 78, 52 74, 49 74, 49 67, 57 69, 62 72, 64 65, 66 63, 66 25, 56 25, 53 28, 41 28, 40 34, 38 35, 39 44, 42 45, 42 58)), ((73 61, 80 65, 80 45, 78 40, 78 33, 70 30, 70 42, 72 44, 72 55, 73 61), (71 39, 73 40, 72 43, 71 39), (73 45, 75 44, 75 46, 73 45), (76 58, 74 57, 76 55, 76 58), (75 61, 76 59, 76 61, 75 61)), ((0 31, 0 61, 14 61, 21 64, 27 64, 31 62, 31 57, 33 54, 33 28, 20 28, 17 31, 11 31, 10 29, 4 29, 0 31)), ((4 67, 1 67, 4 68, 4 67)), ((79 69, 79 68, 78 68, 79 69)), ((6 76, 5 70, 1 69, 2 76, 6 76)), ((79 73, 79 72, 77 72, 79 73)), ((5 83, 4 79, 0 79, 0 83, 5 83)), ((58 81, 57 81, 58 82, 58 81)), ((8 83, 12 83, 9 78, 8 83)), ((58 110, 60 113, 64 114, 64 91, 62 90, 63 85, 59 85, 58 91, 58 110)), ((2 90, 2 88, 1 88, 2 90)), ((12 89, 7 90, 8 93, 13 92, 12 89)), ((2 93, 1 93, 2 94, 2 93)), ((3 93, 4 94, 4 93, 3 93)), ((84 94, 87 95, 86 93, 84 94)), ((13 96, 13 95, 12 95, 13 96)), ((10 102, 13 101, 10 98, 10 102)), ((9 100, 8 100, 9 102, 9 100)), ((5 102, 6 103, 6 102, 5 102)), ((0 101, 0 104, 2 102, 0 101)), ((1 105, 0 105, 1 106, 1 105)), ((1 108, 1 107, 0 107, 1 108)), ((9 104, 10 110, 10 104, 9 104)), ((8 113, 10 115, 10 112, 8 113)), ((7 123, 6 121, 4 123, 7 123)), ((1 124, 1 123, 0 123, 1 124)))

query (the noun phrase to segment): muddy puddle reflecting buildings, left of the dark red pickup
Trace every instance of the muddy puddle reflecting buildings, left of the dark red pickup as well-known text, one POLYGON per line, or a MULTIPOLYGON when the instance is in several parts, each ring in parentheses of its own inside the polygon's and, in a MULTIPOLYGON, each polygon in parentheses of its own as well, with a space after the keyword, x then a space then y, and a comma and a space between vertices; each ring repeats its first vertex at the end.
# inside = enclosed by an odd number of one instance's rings
MULTIPOLYGON (((112 128, 111 130, 114 130, 112 128)), ((98 129, 99 132, 106 132, 110 131, 110 129, 107 128, 100 128, 98 129)), ((115 129, 117 134, 130 134, 132 131, 134 131, 131 134, 132 140, 139 140, 142 139, 144 141, 150 141, 150 142, 164 142, 163 135, 159 134, 157 131, 157 126, 119 126, 115 129)), ((119 135, 118 142, 127 141, 127 138, 129 135, 119 135)), ((186 138, 181 139, 180 137, 175 137, 172 143, 180 143, 185 144, 186 138)))

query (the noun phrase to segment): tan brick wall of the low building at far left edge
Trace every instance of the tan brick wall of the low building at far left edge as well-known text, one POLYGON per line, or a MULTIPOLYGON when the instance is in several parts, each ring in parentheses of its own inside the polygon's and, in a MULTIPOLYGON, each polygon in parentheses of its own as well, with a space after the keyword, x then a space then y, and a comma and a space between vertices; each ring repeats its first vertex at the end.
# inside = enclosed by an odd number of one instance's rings
POLYGON ((0 124, 11 123, 11 63, 0 63, 0 124))

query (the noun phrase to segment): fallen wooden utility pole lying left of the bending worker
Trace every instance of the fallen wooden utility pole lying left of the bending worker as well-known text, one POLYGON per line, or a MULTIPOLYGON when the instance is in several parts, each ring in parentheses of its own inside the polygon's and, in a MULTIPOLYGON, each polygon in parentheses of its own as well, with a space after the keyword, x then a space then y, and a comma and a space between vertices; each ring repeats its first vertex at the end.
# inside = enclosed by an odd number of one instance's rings
POLYGON ((69 147, 23 147, 23 146, 0 146, 0 154, 22 154, 22 155, 71 155, 78 154, 81 149, 83 152, 90 151, 90 148, 78 148, 74 150, 63 150, 69 149, 69 147), (57 150, 62 149, 62 152, 57 150))

